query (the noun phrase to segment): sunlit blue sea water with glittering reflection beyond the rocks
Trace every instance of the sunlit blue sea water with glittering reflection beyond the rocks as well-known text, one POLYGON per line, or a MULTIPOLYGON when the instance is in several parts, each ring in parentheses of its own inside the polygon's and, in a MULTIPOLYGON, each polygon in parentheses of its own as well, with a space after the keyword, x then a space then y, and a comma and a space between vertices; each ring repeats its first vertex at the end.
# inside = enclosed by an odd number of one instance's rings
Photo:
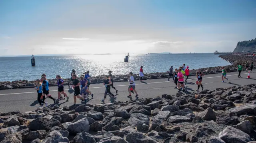
POLYGON ((151 54, 130 55, 129 63, 124 63, 125 55, 74 55, 36 57, 36 66, 31 66, 31 57, 0 57, 0 81, 35 80, 42 73, 47 78, 60 74, 70 78, 72 69, 77 74, 89 70, 92 76, 108 74, 138 73, 143 66, 144 73, 166 72, 170 66, 178 68, 184 63, 190 69, 230 65, 214 54, 151 54))

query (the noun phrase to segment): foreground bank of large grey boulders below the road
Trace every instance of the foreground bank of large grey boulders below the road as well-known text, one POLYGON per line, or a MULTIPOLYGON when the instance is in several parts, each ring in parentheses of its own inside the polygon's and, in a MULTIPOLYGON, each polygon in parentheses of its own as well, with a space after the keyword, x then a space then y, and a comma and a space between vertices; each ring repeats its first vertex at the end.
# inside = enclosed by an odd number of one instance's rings
POLYGON ((256 143, 256 84, 0 112, 0 143, 256 143))

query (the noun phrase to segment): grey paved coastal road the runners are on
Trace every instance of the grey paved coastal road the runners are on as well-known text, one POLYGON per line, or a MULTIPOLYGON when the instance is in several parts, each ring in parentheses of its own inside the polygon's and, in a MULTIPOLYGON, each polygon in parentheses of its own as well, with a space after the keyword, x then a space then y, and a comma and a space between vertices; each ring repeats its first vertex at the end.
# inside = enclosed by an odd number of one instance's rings
MULTIPOLYGON (((256 73, 250 73, 251 79, 247 78, 247 73, 245 71, 242 72, 242 78, 238 78, 238 72, 230 72, 228 73, 229 78, 228 81, 224 83, 221 82, 221 74, 208 74, 203 78, 204 89, 214 90, 216 88, 226 88, 231 86, 238 85, 247 85, 256 82, 256 73)), ((168 82, 167 78, 155 79, 155 80, 144 80, 145 83, 136 81, 136 89, 139 94, 139 98, 155 98, 156 96, 161 96, 162 94, 176 94, 178 90, 174 89, 174 82, 168 82)), ((188 80, 187 84, 187 93, 195 92, 197 89, 196 76, 191 76, 188 80)), ((118 89, 118 96, 116 101, 128 101, 130 98, 128 96, 128 82, 116 82, 114 86, 118 89)), ((67 92, 67 86, 64 87, 67 92)), ((94 93, 94 99, 90 100, 89 104, 101 104, 100 100, 104 96, 105 87, 103 84, 91 84, 90 90, 94 93)), ((200 88, 201 90, 201 88, 200 88)), ((114 90, 111 89, 112 93, 114 90)), ((50 87, 50 94, 54 98, 57 98, 57 86, 50 87)), ((59 106, 70 106, 74 104, 73 95, 68 94, 70 97, 69 102, 66 100, 61 100, 59 106)), ((134 94, 132 94, 133 100, 134 94)), ((0 90, 0 112, 10 112, 19 110, 21 112, 33 111, 39 106, 37 102, 37 93, 34 88, 25 88, 25 89, 10 89, 10 90, 0 90)), ((105 103, 110 103, 107 99, 105 103)), ((46 98, 46 102, 48 104, 53 104, 53 101, 49 98, 46 98)), ((80 100, 77 101, 77 104, 80 104, 80 100)))

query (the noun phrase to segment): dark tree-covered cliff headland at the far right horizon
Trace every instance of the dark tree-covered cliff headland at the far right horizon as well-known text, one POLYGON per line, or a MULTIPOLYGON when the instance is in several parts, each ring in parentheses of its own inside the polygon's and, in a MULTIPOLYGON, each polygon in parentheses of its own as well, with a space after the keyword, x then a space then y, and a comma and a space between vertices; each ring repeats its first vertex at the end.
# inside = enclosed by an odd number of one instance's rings
POLYGON ((256 38, 249 41, 238 42, 234 53, 256 52, 256 38))

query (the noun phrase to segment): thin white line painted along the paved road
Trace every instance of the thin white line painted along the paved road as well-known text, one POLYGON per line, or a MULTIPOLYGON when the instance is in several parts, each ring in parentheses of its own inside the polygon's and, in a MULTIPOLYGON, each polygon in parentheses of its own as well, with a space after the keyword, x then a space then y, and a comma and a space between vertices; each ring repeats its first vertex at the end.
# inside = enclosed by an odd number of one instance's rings
MULTIPOLYGON (((243 74, 248 74, 248 73, 243 73, 243 74)), ((227 76, 234 76, 234 75, 238 75, 238 74, 232 74, 232 75, 227 75, 227 76)), ((216 77, 221 77, 221 76, 204 77, 204 79, 205 78, 216 78, 216 77)), ((188 80, 196 80, 196 78, 188 79, 188 80)), ((147 83, 147 84, 156 84, 156 83, 164 83, 164 82, 170 82, 170 81, 150 82, 150 83, 147 83)), ((209 82, 209 83, 212 83, 212 82, 209 82)), ((144 84, 144 83, 139 83, 139 84, 136 84, 136 85, 141 85, 141 84, 144 84)), ((129 86, 129 84, 126 84, 126 85, 115 85, 115 86, 129 86)), ((92 89, 92 88, 105 88, 105 86, 90 87, 90 89, 92 89)), ((68 90, 68 89, 65 89, 65 90, 68 90)), ((50 92, 53 92, 53 91, 58 91, 58 90, 50 90, 50 92)), ((26 93, 36 93, 36 92, 6 93, 6 94, 0 94, 0 95, 26 94, 26 93)))

